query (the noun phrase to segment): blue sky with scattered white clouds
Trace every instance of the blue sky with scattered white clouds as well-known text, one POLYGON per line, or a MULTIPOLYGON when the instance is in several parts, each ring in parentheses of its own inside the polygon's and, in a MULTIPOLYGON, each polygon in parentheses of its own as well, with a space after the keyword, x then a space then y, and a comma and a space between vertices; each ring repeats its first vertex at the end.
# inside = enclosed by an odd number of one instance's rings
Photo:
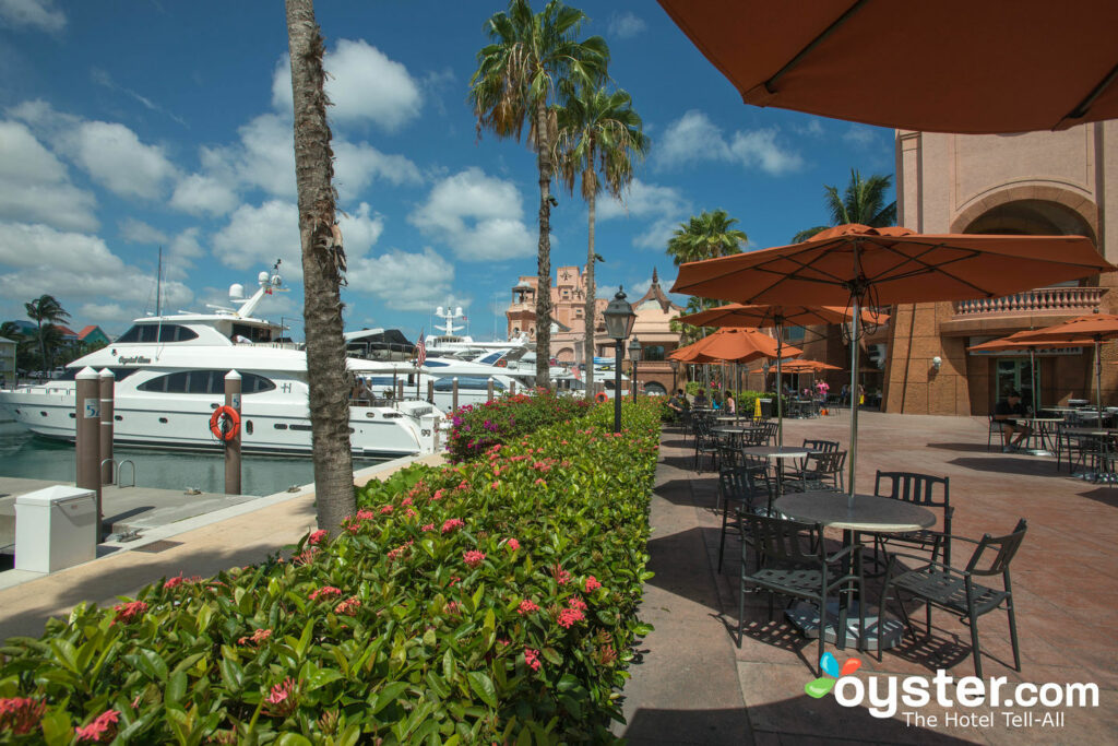
MULTIPOLYGON (((624 204, 599 199, 603 292, 643 293, 664 247, 704 209, 750 245, 825 224, 823 185, 893 172, 891 130, 746 106, 659 4, 571 3, 601 35, 610 75, 652 142, 624 204)), ((416 337, 435 305, 503 334, 536 274, 536 161, 479 139, 466 100, 496 1, 321 1, 347 329, 416 337)), ((533 7, 539 10, 538 0, 533 7)), ((260 314, 299 318, 302 284, 287 37, 281 2, 0 0, 0 319, 50 293, 72 325, 122 332, 154 310, 228 305, 276 258, 292 292, 260 314)), ((587 210, 558 193, 552 266, 586 259, 587 210)), ((685 302, 685 298, 678 300, 685 302)), ((294 336, 302 336, 301 319, 294 336)))

